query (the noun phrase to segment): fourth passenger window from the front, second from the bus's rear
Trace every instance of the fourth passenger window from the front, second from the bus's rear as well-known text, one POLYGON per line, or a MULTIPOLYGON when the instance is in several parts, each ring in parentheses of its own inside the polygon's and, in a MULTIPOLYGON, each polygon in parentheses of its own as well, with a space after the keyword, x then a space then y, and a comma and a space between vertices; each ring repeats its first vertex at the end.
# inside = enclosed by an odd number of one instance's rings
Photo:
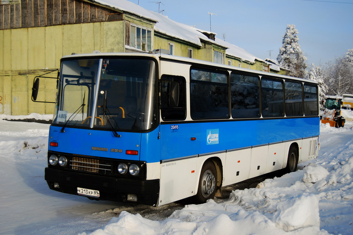
POLYGON ((287 117, 303 116, 303 85, 285 81, 285 111, 287 117))

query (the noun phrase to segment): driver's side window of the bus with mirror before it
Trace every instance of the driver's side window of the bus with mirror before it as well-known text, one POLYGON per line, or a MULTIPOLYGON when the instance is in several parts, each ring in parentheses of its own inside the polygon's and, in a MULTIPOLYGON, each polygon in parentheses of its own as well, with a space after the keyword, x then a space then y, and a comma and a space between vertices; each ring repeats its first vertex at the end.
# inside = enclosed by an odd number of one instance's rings
MULTIPOLYGON (((161 116, 163 121, 185 120, 186 105, 185 105, 185 78, 181 76, 163 75, 160 80, 161 87, 161 116), (179 84, 179 99, 178 102, 171 100, 171 87, 173 83, 179 84)), ((174 84, 175 85, 175 84, 174 84)), ((177 91, 177 90, 175 90, 177 91)), ((174 91, 174 92, 175 92, 174 91)), ((174 96, 177 96, 174 94, 174 96)))

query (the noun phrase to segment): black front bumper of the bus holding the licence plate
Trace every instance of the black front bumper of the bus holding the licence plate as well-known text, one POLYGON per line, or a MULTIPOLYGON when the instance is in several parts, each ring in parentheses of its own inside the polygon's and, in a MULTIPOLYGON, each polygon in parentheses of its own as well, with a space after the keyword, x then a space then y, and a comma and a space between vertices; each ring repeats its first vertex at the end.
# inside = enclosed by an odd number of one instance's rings
POLYGON ((49 188, 55 191, 79 195, 77 188, 98 190, 99 197, 85 196, 90 199, 108 200, 114 202, 134 203, 127 200, 128 194, 136 195, 139 204, 156 206, 159 196, 159 179, 139 180, 106 177, 61 169, 45 168, 44 178, 49 188), (54 187, 55 185, 55 187, 54 187))

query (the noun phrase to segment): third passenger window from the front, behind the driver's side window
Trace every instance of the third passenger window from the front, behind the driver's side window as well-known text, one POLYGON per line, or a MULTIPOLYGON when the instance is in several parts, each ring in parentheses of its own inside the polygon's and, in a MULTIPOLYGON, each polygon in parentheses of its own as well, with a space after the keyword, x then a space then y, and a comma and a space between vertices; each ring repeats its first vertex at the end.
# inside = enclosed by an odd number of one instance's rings
POLYGON ((283 82, 261 79, 261 112, 263 117, 283 117, 283 82))

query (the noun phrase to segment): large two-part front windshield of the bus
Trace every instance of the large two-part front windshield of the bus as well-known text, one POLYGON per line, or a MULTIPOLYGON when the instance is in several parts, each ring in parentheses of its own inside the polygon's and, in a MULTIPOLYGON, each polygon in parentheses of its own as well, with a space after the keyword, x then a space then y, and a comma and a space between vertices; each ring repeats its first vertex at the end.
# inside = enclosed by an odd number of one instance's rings
POLYGON ((148 130, 156 122, 155 104, 152 60, 66 60, 61 64, 53 124, 148 130))

